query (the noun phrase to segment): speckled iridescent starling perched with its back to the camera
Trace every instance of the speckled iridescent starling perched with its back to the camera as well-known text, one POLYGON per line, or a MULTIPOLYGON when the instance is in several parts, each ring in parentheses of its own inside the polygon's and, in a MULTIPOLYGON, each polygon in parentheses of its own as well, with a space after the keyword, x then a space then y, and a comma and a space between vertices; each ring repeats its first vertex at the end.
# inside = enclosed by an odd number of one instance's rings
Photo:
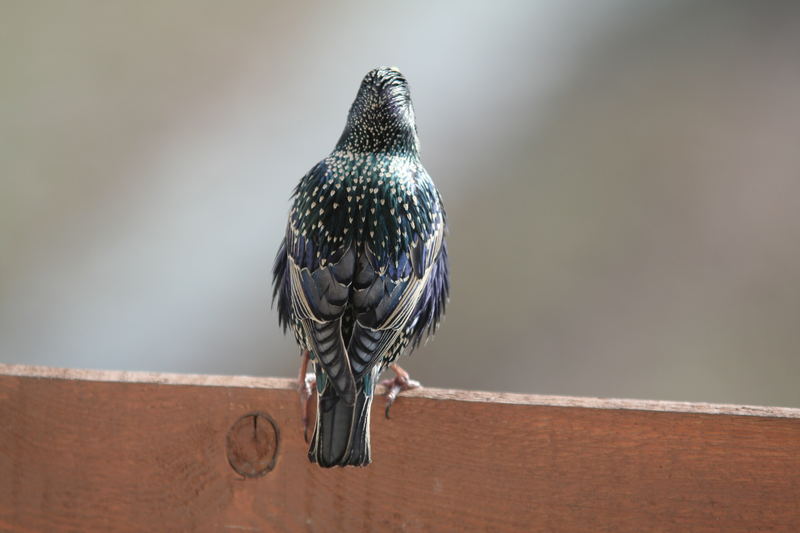
POLYGON ((382 382, 387 418, 397 394, 419 386, 395 360, 444 316, 446 231, 441 195, 420 160, 408 81, 396 67, 375 68, 334 150, 294 189, 273 266, 279 325, 301 348, 304 435, 312 387, 317 393, 312 463, 370 464, 370 408, 381 372, 396 374, 382 382))

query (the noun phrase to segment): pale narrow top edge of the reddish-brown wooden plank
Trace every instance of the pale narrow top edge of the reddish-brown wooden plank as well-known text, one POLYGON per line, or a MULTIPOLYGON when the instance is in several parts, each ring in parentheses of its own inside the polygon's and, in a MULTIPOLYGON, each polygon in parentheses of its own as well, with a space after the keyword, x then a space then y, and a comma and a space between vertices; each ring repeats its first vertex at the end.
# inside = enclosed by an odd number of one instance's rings
MULTIPOLYGON (((189 385, 202 387, 243 387, 256 389, 295 390, 295 380, 256 376, 223 376, 206 374, 173 374, 127 370, 90 370, 49 366, 10 365, 0 363, 0 377, 16 376, 39 379, 105 381, 115 383, 150 383, 160 385, 189 385)), ((542 407, 574 407, 583 409, 626 409, 672 413, 760 416, 800 419, 800 409, 662 400, 592 398, 578 396, 549 396, 512 392, 465 391, 423 387, 404 392, 403 396, 431 400, 534 405, 542 407)))

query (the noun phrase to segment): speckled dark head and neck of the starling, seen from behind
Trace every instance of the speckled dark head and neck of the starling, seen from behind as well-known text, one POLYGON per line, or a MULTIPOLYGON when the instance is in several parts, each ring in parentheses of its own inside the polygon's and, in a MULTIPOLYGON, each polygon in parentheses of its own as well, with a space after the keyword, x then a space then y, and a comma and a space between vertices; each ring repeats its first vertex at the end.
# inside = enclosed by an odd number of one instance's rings
POLYGON ((379 67, 364 76, 337 147, 356 152, 417 153, 411 92, 397 68, 379 67))

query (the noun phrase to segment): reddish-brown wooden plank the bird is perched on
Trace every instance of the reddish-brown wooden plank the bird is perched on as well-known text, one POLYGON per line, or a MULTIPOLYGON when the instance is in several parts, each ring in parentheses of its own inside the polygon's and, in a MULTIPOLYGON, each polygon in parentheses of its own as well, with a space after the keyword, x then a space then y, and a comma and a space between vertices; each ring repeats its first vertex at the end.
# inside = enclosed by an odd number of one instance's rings
POLYGON ((423 389, 381 414, 371 466, 323 470, 290 380, 0 365, 0 530, 800 531, 798 409, 423 389), (252 413, 280 442, 245 478, 252 413))

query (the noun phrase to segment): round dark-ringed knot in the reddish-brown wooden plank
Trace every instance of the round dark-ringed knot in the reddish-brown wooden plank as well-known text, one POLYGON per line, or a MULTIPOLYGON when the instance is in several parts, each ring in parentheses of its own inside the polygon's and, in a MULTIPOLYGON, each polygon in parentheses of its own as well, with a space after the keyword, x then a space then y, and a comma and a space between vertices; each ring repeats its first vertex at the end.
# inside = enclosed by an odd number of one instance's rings
POLYGON ((280 434, 265 413, 248 413, 228 430, 228 463, 244 477, 261 477, 275 468, 280 434))

